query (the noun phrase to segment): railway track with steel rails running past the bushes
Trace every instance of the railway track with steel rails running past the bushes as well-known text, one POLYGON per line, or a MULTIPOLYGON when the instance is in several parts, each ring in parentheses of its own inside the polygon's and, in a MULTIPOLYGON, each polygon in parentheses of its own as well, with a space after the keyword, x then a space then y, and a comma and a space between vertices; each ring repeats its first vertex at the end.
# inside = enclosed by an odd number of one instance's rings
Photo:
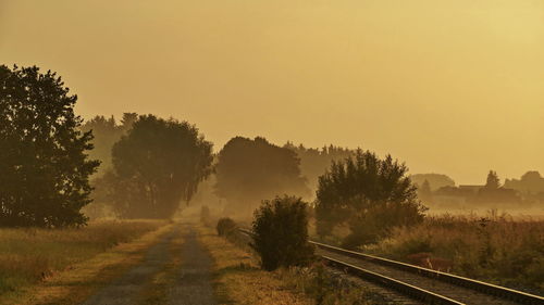
MULTIPOLYGON (((246 236, 252 232, 239 229, 246 236)), ((544 297, 446 272, 313 242, 317 254, 353 276, 428 304, 544 305, 544 297)))

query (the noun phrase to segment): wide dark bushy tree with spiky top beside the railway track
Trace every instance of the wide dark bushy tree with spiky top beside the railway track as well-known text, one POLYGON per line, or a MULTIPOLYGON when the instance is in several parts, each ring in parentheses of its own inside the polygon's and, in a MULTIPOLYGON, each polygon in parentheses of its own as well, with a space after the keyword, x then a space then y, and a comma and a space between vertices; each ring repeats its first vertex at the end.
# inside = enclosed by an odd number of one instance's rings
POLYGON ((406 177, 407 167, 391 155, 380 160, 369 151, 333 162, 320 177, 316 202, 318 234, 347 224, 348 247, 376 242, 391 228, 411 226, 423 219, 424 207, 416 187, 406 177))

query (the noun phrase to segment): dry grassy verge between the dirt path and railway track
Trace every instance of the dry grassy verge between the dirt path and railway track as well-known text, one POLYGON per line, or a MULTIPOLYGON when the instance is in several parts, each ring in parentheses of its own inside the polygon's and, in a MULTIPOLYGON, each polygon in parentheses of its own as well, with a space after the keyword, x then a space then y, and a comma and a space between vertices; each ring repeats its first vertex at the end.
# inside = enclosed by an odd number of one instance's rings
POLYGON ((346 277, 333 275, 319 262, 307 268, 267 272, 244 237, 231 236, 227 241, 210 228, 200 228, 200 238, 215 258, 223 304, 390 304, 346 277))

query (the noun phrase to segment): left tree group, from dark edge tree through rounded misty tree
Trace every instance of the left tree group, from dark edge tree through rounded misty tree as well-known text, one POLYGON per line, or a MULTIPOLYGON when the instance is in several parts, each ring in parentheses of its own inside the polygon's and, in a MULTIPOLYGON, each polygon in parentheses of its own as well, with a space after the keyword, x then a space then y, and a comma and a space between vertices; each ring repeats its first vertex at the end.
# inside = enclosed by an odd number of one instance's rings
POLYGON ((82 125, 76 101, 52 72, 0 66, 0 226, 85 225, 95 157, 94 198, 126 218, 171 216, 211 173, 195 126, 131 113, 82 125))

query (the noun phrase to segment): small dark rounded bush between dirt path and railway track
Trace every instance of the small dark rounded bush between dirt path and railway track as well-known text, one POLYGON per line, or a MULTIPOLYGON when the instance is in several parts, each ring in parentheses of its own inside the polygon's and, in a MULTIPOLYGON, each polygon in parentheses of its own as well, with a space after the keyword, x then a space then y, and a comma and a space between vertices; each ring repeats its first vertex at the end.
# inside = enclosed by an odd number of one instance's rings
POLYGON ((306 266, 313 257, 308 243, 307 204, 300 198, 276 196, 265 200, 255 212, 252 247, 261 257, 262 268, 306 266))

